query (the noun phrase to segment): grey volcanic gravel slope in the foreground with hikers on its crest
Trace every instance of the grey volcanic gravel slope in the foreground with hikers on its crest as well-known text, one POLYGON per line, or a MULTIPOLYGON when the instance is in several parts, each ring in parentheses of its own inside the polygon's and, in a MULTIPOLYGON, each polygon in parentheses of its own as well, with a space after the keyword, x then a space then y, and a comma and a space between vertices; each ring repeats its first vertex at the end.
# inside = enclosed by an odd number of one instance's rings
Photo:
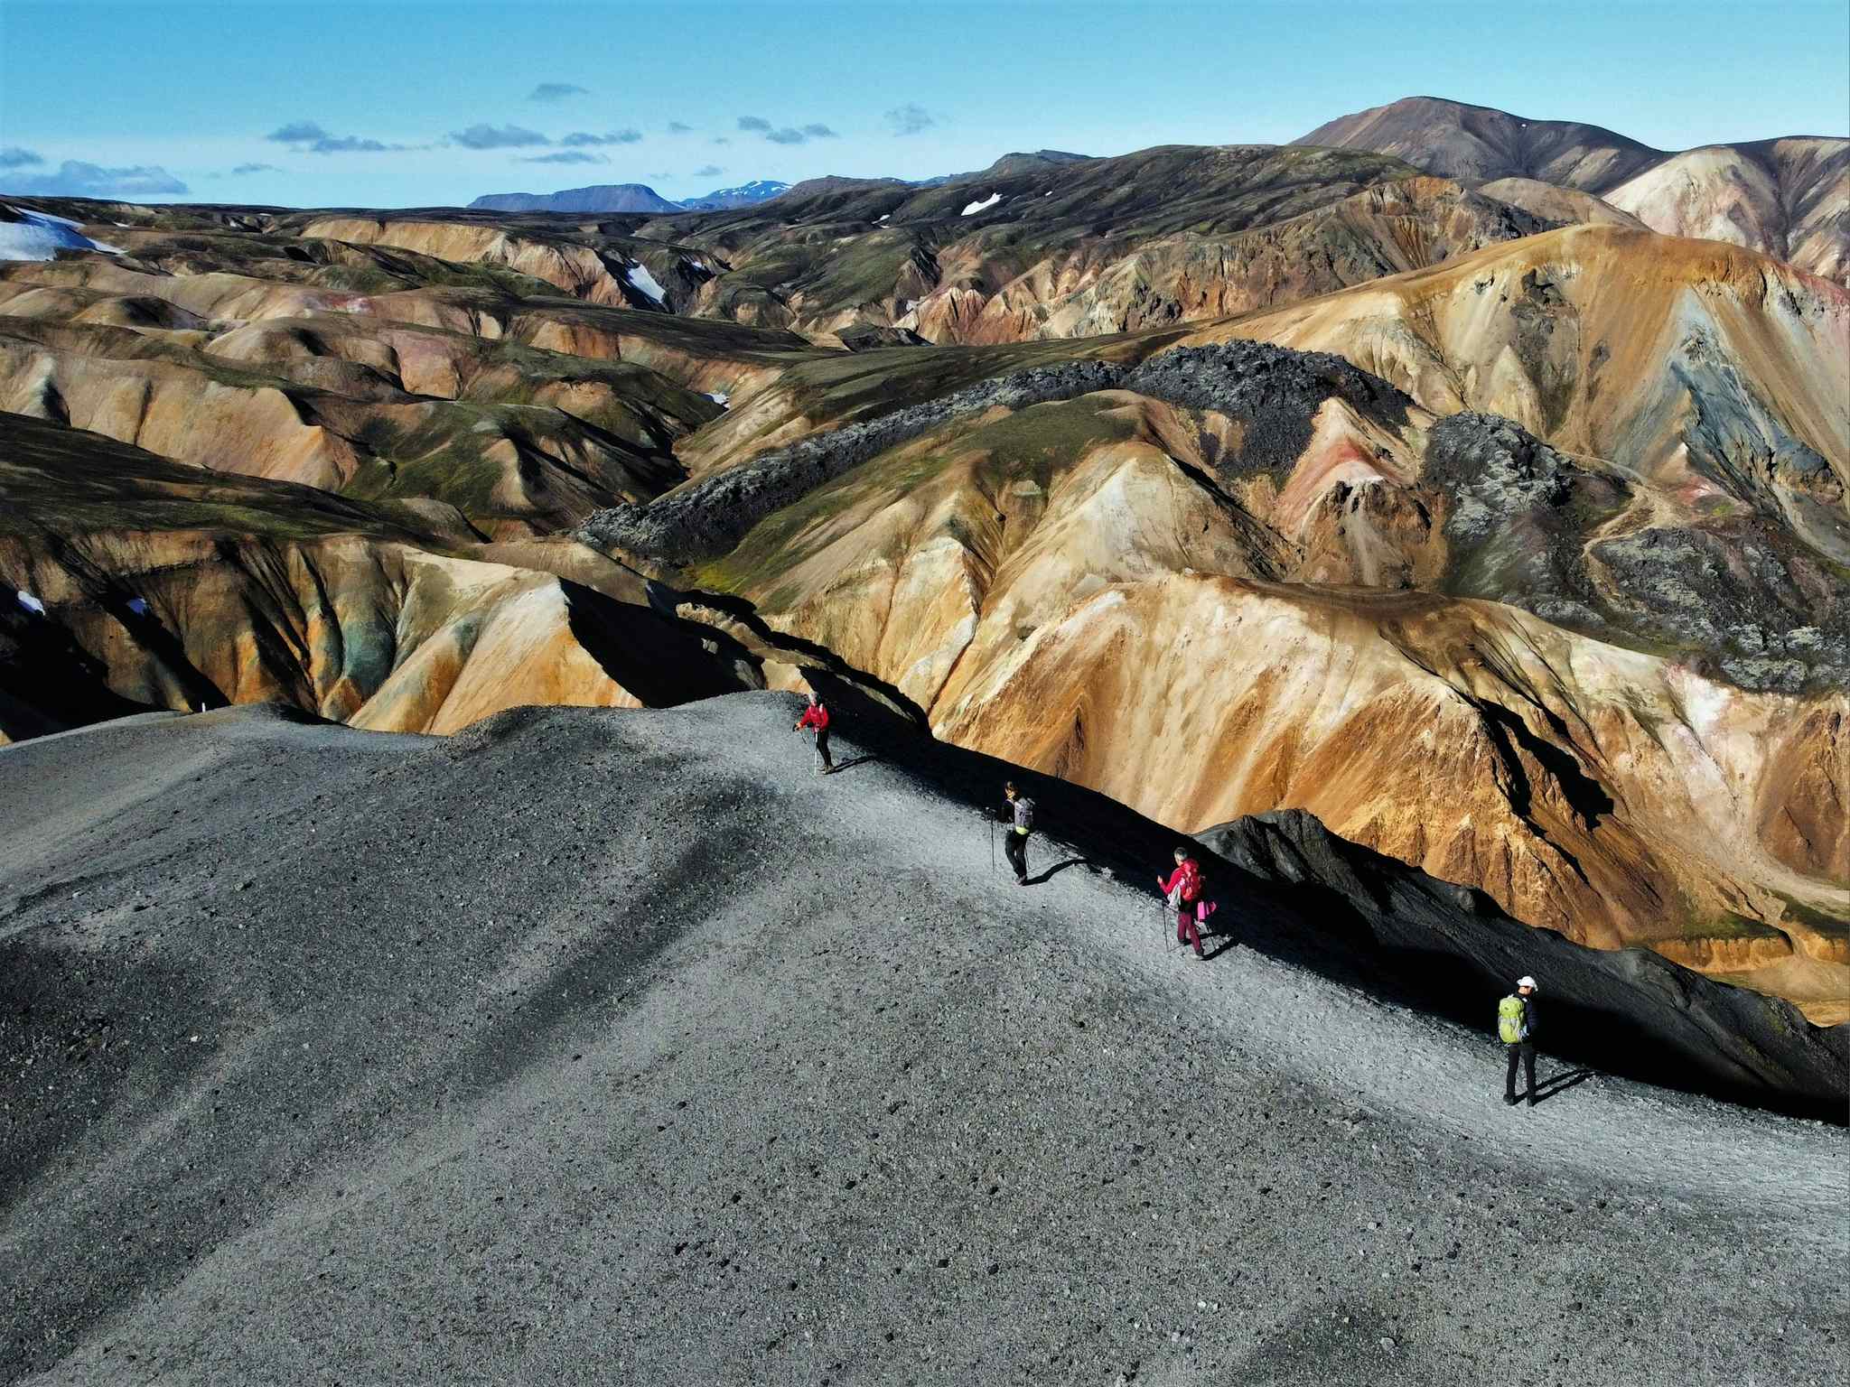
POLYGON ((992 875, 918 747, 818 779, 751 694, 0 749, 0 1378, 1839 1380, 1841 1130, 1506 1110, 1238 895, 1199 965, 1060 843, 992 875))

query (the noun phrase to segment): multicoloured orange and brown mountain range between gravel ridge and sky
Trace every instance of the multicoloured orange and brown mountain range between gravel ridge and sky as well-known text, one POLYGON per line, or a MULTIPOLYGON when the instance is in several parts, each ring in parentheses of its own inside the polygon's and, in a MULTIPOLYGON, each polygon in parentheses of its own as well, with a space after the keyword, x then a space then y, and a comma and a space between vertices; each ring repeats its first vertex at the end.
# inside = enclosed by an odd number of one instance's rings
POLYGON ((1841 264, 1837 146, 1720 205, 1443 115, 672 216, 7 200, 70 226, 0 266, 0 727, 827 664, 1844 1019, 1850 294, 1722 235, 1841 264))

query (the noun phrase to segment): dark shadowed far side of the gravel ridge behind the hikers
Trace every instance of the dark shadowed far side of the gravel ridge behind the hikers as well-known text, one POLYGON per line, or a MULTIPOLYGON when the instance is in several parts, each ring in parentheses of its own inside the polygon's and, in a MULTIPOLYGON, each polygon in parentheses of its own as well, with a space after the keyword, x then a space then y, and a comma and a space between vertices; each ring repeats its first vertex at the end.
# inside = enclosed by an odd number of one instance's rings
MULTIPOLYGON (((969 804, 973 834, 988 832, 977 816, 1001 804, 1005 780, 1032 795, 1040 829, 1030 880, 1071 865, 1036 862, 1058 843, 1154 899, 1154 871, 1177 841, 1188 841, 1066 780, 949 743, 927 751, 851 686, 821 682, 845 714, 842 734, 969 804)), ((1850 1026, 1811 1026, 1789 1002, 1713 982, 1645 949, 1587 949, 1534 928, 1482 891, 1338 838, 1304 810, 1249 816, 1193 841, 1223 904, 1214 917, 1221 939, 1480 1030, 1487 1047, 1497 999, 1534 973, 1543 984, 1539 1041, 1550 1056, 1798 1117, 1846 1119, 1850 1026)))

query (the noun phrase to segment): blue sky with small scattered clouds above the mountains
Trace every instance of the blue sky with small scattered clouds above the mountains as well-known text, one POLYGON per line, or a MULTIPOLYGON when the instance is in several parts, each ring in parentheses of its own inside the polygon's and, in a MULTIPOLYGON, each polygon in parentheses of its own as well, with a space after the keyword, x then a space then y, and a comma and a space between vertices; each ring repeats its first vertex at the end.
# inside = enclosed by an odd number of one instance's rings
POLYGON ((403 207, 1282 142, 1399 96, 1846 135, 1850 0, 0 0, 0 189, 403 207), (181 190, 183 189, 183 190, 181 190))

